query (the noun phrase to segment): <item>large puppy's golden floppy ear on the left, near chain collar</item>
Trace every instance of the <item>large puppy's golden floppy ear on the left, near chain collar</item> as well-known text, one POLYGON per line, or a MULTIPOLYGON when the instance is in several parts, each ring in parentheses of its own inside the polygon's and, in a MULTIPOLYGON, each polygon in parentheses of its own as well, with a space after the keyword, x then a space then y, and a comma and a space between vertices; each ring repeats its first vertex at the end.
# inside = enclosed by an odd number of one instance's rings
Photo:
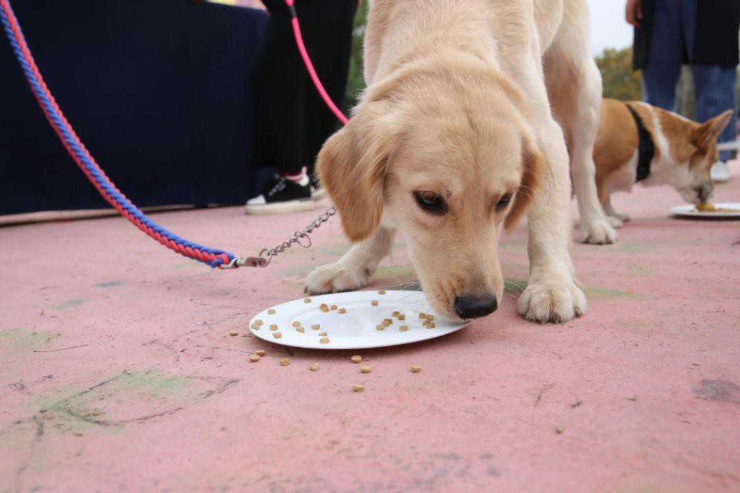
POLYGON ((326 140, 316 168, 351 242, 380 225, 383 185, 394 136, 382 102, 361 103, 349 122, 326 140))

